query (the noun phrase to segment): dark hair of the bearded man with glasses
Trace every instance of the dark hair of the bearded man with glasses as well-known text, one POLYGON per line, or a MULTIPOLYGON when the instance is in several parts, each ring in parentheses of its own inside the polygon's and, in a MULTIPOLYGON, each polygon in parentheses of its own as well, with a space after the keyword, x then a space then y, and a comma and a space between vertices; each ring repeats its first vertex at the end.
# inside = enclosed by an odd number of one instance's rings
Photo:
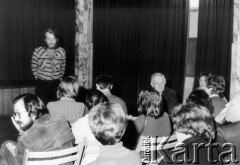
POLYGON ((38 119, 40 116, 48 113, 47 108, 37 95, 30 93, 19 95, 12 101, 12 104, 16 104, 21 99, 29 116, 35 115, 36 119, 38 119))

